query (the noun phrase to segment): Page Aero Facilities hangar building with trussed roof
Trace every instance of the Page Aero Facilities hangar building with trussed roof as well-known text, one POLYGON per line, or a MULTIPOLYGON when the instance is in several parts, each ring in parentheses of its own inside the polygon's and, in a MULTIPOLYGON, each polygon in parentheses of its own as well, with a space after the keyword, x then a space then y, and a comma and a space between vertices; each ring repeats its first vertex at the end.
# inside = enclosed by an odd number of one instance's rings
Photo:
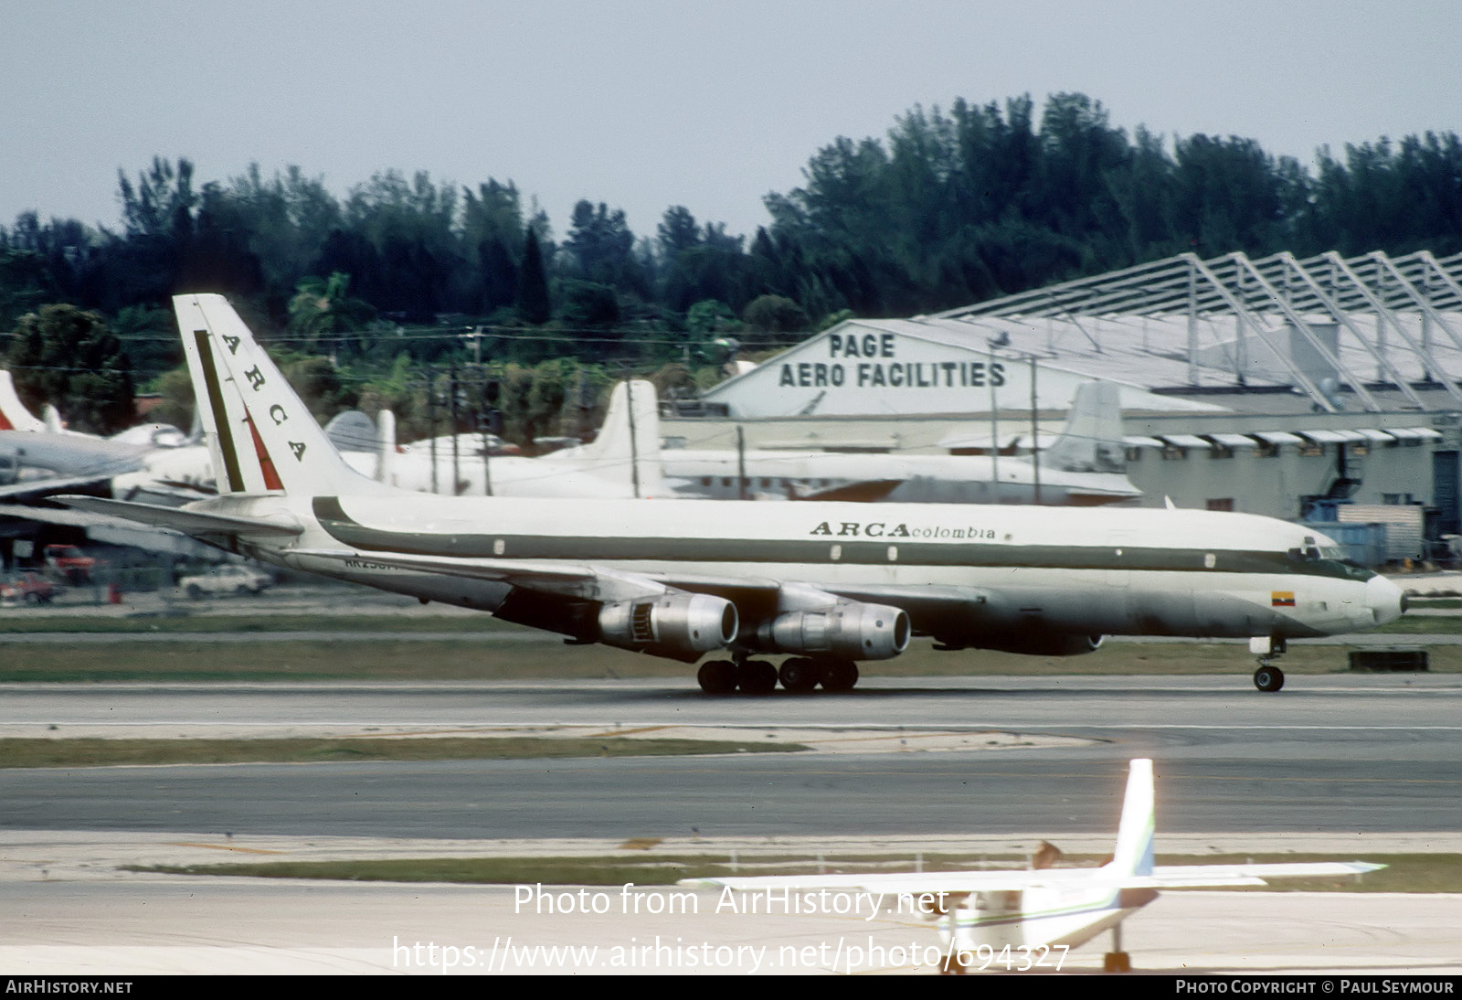
POLYGON ((706 390, 706 417, 664 433, 692 447, 735 447, 740 427, 747 447, 1028 450, 1099 379, 1121 387, 1142 504, 1366 509, 1424 520, 1436 547, 1462 534, 1459 377, 1462 254, 1180 254, 934 316, 846 320, 706 390))

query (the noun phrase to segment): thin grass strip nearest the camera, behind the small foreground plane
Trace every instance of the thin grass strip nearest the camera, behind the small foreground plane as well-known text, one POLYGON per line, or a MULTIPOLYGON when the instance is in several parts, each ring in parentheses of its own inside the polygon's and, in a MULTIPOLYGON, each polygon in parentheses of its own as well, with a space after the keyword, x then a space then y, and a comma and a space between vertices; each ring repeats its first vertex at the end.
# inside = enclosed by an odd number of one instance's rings
MULTIPOLYGON (((1243 892, 1462 892, 1462 855, 1458 854, 1370 854, 1361 860, 1386 868, 1364 876, 1326 879, 1275 879, 1268 886, 1243 892)), ((1161 855, 1158 864, 1270 864, 1292 861, 1351 861, 1322 854, 1249 854, 1249 855, 1161 855)), ((1102 858, 1069 857, 1072 867, 1095 867, 1102 858)), ((925 855, 924 873, 971 871, 984 867, 1022 868, 1023 858, 990 864, 990 857, 925 855)), ((732 864, 730 857, 596 857, 596 858, 396 858, 358 861, 260 861, 244 864, 126 865, 126 871, 155 871, 187 876, 246 876, 259 879, 333 879, 344 882, 455 882, 472 885, 545 886, 639 886, 674 885, 680 879, 716 879, 724 876, 887 873, 911 871, 906 857, 832 857, 823 861, 788 863, 787 860, 747 858, 732 864)), ((1177 890, 1168 890, 1177 892, 1177 890)))

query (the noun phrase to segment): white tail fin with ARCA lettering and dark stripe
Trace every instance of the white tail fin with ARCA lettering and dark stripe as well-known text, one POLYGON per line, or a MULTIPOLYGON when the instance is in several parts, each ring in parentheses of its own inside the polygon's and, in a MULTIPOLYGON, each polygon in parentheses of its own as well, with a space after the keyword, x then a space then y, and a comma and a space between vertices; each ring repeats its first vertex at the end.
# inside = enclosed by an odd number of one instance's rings
POLYGON ((177 295, 173 307, 219 494, 330 496, 371 482, 345 463, 227 298, 177 295))

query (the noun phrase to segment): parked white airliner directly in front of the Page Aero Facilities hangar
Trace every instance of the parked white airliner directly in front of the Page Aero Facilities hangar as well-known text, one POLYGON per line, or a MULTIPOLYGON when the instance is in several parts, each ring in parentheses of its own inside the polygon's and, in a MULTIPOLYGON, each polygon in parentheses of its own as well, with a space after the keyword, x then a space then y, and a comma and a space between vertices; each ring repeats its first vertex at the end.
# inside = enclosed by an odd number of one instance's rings
POLYGON ((1127 478, 1118 389, 1110 382, 1077 389, 1066 428, 1034 459, 667 449, 662 462, 677 496, 721 500, 1032 503, 1039 497, 1044 504, 1095 506, 1142 496, 1127 478))

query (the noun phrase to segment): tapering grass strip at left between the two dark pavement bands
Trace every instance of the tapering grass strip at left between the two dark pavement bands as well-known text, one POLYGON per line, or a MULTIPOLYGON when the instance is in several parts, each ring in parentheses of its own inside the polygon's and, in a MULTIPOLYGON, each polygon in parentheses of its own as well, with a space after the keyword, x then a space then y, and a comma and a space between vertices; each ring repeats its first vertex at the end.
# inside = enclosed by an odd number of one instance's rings
POLYGON ((364 737, 262 740, 0 740, 0 768, 311 763, 342 760, 520 760, 791 753, 797 743, 624 737, 364 737))

